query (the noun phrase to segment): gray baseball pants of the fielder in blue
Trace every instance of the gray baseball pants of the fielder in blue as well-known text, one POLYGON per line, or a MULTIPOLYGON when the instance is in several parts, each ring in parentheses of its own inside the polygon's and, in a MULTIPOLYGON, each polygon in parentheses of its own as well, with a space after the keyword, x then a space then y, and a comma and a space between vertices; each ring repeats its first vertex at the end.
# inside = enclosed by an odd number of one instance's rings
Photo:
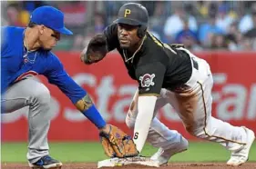
POLYGON ((27 78, 11 85, 2 97, 4 113, 29 106, 27 116, 29 124, 27 160, 36 163, 48 154, 47 134, 50 126, 50 92, 46 85, 27 78))

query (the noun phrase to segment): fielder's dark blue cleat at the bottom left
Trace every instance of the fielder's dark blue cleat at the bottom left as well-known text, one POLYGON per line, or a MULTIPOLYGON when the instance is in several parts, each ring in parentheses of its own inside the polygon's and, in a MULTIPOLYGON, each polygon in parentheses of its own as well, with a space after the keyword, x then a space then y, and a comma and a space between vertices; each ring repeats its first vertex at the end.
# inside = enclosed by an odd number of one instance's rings
POLYGON ((49 155, 43 156, 34 164, 28 164, 32 169, 60 169, 62 166, 61 162, 53 159, 49 155))

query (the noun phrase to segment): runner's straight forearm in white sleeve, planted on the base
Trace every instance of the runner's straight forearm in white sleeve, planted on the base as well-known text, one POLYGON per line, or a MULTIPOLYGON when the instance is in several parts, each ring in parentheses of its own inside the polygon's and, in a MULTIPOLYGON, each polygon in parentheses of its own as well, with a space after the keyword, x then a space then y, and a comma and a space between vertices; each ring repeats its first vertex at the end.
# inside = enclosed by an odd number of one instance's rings
POLYGON ((156 101, 156 96, 138 96, 138 115, 135 122, 133 140, 139 153, 142 151, 148 137, 156 101))

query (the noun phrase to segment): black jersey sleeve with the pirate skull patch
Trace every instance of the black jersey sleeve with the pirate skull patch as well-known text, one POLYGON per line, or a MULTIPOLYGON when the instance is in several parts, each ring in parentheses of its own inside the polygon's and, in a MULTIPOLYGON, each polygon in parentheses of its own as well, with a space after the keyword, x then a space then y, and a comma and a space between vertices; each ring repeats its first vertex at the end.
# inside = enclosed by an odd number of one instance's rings
POLYGON ((138 94, 158 96, 162 88, 165 72, 166 66, 160 62, 139 66, 136 70, 138 94))

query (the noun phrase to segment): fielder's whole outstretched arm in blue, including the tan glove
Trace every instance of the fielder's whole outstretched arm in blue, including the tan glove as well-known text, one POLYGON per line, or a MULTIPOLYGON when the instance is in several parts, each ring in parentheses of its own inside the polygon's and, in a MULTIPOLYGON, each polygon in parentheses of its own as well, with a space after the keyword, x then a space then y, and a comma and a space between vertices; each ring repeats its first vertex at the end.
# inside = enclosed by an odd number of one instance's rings
POLYGON ((77 107, 87 119, 97 126, 99 130, 101 143, 109 157, 127 157, 138 155, 136 146, 132 139, 122 132, 118 127, 107 124, 96 105, 93 103, 90 95, 79 86, 64 70, 56 55, 49 54, 52 62, 46 70, 46 77, 50 84, 55 84, 70 101, 77 107))

